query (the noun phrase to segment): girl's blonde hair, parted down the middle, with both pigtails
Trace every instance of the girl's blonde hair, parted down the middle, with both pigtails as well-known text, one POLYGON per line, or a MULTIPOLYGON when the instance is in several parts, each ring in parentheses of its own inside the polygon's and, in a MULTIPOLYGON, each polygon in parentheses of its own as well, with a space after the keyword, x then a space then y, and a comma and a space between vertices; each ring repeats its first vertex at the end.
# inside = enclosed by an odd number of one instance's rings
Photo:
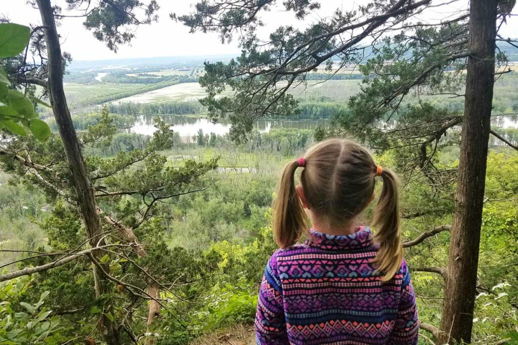
POLYGON ((307 232, 303 202, 312 216, 328 229, 352 225, 372 201, 376 176, 383 180, 373 220, 377 227, 373 239, 380 246, 376 263, 384 280, 391 279, 403 258, 397 177, 392 171, 377 166, 367 149, 350 140, 323 141, 312 146, 304 159, 286 165, 274 206, 273 228, 279 246, 290 247, 307 232), (300 166, 304 169, 297 195, 294 175, 300 166))

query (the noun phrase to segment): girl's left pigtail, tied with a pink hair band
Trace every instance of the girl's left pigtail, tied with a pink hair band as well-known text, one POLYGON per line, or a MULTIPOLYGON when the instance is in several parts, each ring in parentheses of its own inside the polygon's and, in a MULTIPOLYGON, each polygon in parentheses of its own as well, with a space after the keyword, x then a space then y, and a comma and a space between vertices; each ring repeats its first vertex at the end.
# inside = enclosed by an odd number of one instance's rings
POLYGON ((295 170, 299 163, 288 163, 282 171, 279 192, 274 204, 273 231, 275 241, 281 248, 297 243, 306 230, 304 208, 295 192, 295 170))

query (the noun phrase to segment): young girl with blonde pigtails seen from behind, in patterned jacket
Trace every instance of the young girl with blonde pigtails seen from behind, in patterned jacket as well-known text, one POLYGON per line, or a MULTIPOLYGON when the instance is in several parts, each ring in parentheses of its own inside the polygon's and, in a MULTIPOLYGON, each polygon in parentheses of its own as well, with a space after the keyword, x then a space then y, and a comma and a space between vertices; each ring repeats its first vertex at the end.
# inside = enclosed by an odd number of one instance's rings
POLYGON ((419 321, 403 259, 397 178, 362 146, 332 139, 284 168, 266 266, 257 344, 416 344, 419 321), (294 175, 302 169, 300 185, 294 175), (383 188, 373 224, 357 226, 383 188), (307 216, 306 216, 307 215, 307 216), (307 217, 313 228, 308 231, 307 217), (296 245, 305 234, 305 244, 296 245))

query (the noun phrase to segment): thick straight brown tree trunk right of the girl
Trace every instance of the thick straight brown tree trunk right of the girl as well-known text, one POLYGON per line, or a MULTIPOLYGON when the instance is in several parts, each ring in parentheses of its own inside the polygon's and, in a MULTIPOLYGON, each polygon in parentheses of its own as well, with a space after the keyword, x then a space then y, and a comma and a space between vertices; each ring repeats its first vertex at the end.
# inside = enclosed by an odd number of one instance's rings
POLYGON ((461 155, 440 344, 471 342, 495 72, 497 0, 471 0, 461 155))

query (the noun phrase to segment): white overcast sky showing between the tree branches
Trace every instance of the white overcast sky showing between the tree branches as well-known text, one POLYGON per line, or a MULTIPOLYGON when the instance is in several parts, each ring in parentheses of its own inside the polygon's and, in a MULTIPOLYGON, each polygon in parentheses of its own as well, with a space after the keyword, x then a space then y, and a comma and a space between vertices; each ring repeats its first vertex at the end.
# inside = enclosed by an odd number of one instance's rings
MULTIPOLYGON (((322 8, 312 12, 304 21, 297 21, 292 13, 286 13, 279 8, 261 14, 266 26, 261 33, 266 35, 280 25, 292 24, 304 27, 319 18, 329 16, 337 8, 349 10, 355 4, 367 0, 321 0, 322 8)), ((445 0, 435 0, 432 4, 445 0)), ((146 3, 146 0, 142 0, 146 3)), ((153 57, 153 56, 185 56, 185 55, 216 55, 239 52, 236 42, 222 44, 216 34, 190 34, 189 29, 169 18, 169 13, 185 14, 192 11, 193 0, 157 0, 161 6, 159 21, 151 25, 140 25, 136 29, 136 37, 131 46, 119 46, 118 53, 113 53, 97 41, 92 33, 82 25, 84 18, 65 18, 58 28, 62 36, 62 48, 69 52, 75 60, 98 60, 111 58, 153 57)), ((0 14, 7 16, 12 22, 28 25, 41 22, 39 13, 25 0, 0 0, 0 14)), ((66 8, 64 0, 53 0, 53 4, 66 8)), ((281 1, 279 1, 281 3, 281 1)), ((467 0, 458 0, 447 7, 430 9, 420 15, 424 21, 437 21, 452 16, 456 11, 466 8, 467 0)), ((65 10, 64 10, 65 11, 65 10)), ((74 14, 67 12, 67 14, 74 14)), ((76 12, 75 14, 79 14, 76 12)), ((518 14, 518 6, 513 14, 518 14)), ((508 18, 508 24, 501 28, 503 36, 518 36, 518 17, 508 18)))

